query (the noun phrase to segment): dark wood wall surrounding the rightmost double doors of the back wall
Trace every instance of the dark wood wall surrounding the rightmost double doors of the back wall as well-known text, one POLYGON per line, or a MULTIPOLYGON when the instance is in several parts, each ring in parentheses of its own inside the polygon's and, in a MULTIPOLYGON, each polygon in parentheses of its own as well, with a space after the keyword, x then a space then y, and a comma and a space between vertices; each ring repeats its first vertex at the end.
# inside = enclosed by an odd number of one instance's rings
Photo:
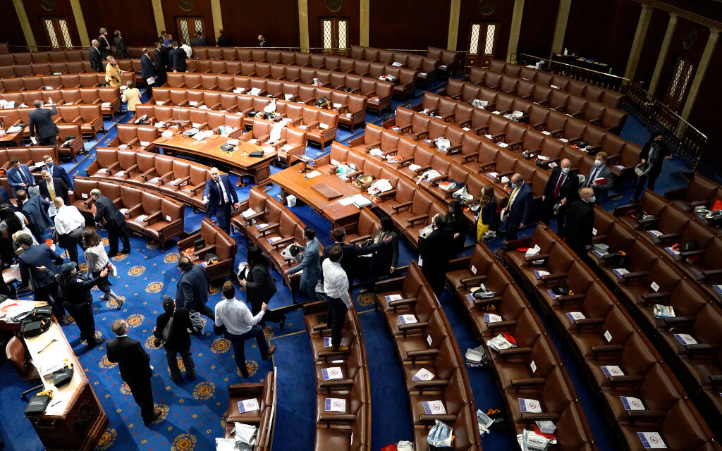
MULTIPOLYGON (((530 2, 531 3, 531 2, 530 2)), ((469 51, 469 31, 471 22, 497 22, 500 29, 497 33, 495 58, 506 59, 509 47, 509 30, 511 29, 511 16, 514 11, 514 0, 495 0, 496 7, 492 14, 484 15, 479 12, 479 0, 461 0, 461 14, 458 19, 457 51, 469 51)))

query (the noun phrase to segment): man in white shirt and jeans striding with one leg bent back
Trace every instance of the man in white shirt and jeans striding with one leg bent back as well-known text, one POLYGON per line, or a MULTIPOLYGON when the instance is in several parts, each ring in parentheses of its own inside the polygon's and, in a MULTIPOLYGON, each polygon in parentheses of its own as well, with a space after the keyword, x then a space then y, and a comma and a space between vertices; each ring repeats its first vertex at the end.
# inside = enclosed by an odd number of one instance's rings
POLYGON ((261 311, 253 316, 248 310, 245 302, 235 299, 235 286, 227 281, 223 284, 223 300, 216 304, 216 322, 213 331, 216 335, 224 335, 230 340, 235 354, 235 364, 238 365, 240 374, 248 377, 248 369, 245 367, 245 341, 248 338, 256 338, 258 351, 261 351, 261 359, 268 360, 276 352, 276 345, 269 348, 266 342, 264 328, 258 325, 258 321, 264 317, 268 305, 264 302, 261 311))

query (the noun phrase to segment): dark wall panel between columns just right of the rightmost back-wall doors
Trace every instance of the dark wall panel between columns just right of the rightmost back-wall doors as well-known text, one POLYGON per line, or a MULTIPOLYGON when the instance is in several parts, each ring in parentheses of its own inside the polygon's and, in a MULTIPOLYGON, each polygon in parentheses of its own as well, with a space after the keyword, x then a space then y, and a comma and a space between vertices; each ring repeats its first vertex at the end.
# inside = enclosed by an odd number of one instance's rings
POLYGON ((557 24, 559 0, 534 0, 524 2, 521 17, 518 53, 549 58, 557 24))

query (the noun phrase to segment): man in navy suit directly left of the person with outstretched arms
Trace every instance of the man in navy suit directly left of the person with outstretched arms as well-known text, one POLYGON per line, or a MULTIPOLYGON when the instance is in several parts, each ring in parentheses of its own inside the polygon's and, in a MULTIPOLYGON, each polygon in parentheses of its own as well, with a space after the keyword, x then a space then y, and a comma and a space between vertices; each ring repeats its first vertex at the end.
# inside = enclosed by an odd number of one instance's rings
POLYGON ((40 266, 45 266, 53 273, 58 272, 58 265, 63 263, 63 258, 54 250, 48 248, 44 242, 42 244, 32 244, 30 235, 21 234, 17 237, 17 245, 23 249, 20 254, 20 278, 22 286, 28 286, 34 294, 36 301, 50 302, 53 307, 53 314, 62 321, 65 318, 65 308, 63 307, 64 298, 60 291, 58 282, 48 277, 44 271, 40 271, 40 266), (51 302, 51 297, 53 302, 51 302))

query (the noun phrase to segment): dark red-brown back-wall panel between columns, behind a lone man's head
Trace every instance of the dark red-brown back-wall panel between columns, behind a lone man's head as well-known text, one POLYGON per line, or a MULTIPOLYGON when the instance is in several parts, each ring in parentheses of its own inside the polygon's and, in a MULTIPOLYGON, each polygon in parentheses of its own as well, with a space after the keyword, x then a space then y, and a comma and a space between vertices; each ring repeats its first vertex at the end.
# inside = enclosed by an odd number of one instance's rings
POLYGON ((298 2, 221 0, 223 30, 233 45, 255 47, 264 35, 269 47, 298 47, 298 2))

